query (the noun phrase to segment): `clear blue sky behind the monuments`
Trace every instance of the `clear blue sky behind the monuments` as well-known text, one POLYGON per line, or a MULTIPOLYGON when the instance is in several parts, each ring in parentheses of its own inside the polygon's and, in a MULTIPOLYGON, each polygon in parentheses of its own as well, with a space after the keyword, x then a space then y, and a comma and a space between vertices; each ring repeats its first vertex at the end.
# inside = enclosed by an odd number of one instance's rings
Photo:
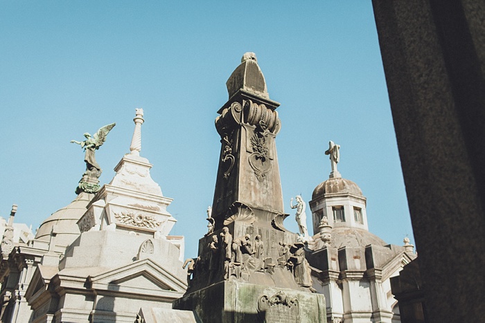
MULTIPOLYGON (((258 57, 282 128, 276 138, 288 229, 290 198, 310 201, 339 171, 367 196, 369 230, 412 238, 371 1, 0 1, 0 215, 37 228, 76 198, 84 154, 70 140, 116 122, 96 154, 109 183, 145 111, 141 156, 172 234, 197 255, 212 203, 217 111, 243 53, 258 57)), ((308 210, 308 227, 311 227, 308 210)))

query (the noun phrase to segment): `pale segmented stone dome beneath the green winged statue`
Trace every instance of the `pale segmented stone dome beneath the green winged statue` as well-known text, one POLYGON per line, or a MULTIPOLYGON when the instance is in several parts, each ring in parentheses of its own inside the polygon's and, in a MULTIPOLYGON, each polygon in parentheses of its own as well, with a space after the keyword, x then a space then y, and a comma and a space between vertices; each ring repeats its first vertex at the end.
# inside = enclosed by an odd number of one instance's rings
POLYGON ((49 216, 37 230, 35 239, 49 241, 51 230, 55 225, 55 244, 58 246, 69 246, 79 236, 79 228, 76 224, 82 214, 86 212, 86 206, 93 199, 94 194, 81 192, 74 201, 66 207, 54 212, 49 216))

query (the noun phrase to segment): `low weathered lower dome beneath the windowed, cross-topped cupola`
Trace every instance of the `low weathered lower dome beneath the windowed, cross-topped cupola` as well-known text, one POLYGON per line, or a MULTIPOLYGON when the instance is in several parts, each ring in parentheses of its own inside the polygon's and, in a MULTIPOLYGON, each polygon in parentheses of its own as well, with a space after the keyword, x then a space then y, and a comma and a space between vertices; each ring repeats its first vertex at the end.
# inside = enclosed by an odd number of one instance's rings
POLYGON ((331 246, 335 248, 364 248, 369 244, 374 246, 387 246, 389 244, 376 236, 376 234, 372 234, 371 232, 362 229, 333 228, 331 233, 331 246))

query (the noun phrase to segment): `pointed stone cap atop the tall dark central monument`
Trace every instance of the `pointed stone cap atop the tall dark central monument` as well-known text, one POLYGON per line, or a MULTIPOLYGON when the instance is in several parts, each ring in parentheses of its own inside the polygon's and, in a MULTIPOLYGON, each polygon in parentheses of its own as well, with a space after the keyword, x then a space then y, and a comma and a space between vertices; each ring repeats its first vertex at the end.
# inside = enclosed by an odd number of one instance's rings
POLYGON ((241 89, 262 98, 270 98, 267 93, 265 77, 258 66, 258 60, 254 53, 248 52, 243 55, 241 64, 233 71, 226 82, 226 86, 229 98, 241 89))

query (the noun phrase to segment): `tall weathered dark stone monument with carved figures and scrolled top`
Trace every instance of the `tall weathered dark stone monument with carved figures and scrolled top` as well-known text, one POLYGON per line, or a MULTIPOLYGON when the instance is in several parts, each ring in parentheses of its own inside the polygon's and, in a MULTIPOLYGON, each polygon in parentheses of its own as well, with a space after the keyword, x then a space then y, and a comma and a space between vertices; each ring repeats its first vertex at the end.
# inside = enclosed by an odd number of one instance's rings
POLYGON ((254 53, 245 53, 227 90, 215 119, 222 145, 213 231, 200 239, 188 290, 173 307, 202 322, 326 322, 324 296, 310 292, 304 245, 283 226, 279 103, 254 53))

